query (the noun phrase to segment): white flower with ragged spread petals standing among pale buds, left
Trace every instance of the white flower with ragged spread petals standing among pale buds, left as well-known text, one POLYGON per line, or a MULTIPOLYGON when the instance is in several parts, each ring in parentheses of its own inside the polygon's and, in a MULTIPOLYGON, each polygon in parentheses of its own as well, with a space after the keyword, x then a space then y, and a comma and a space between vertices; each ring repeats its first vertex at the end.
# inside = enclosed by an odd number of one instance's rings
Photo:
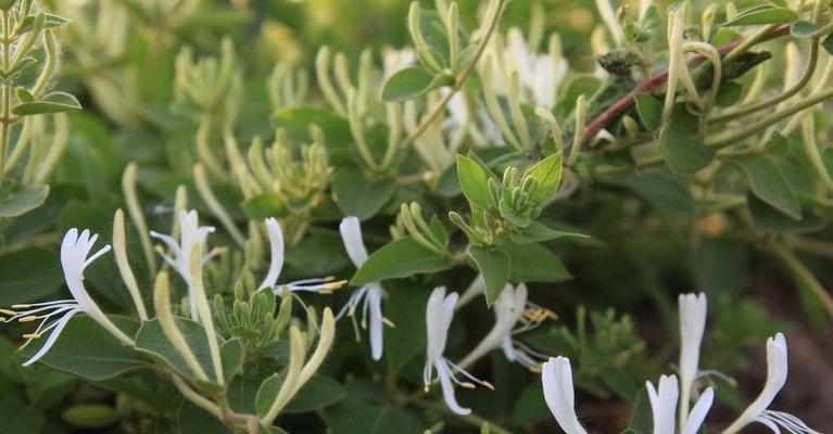
POLYGON ((182 277, 186 284, 188 284, 188 302, 191 318, 194 321, 199 320, 199 312, 197 309, 197 298, 193 296, 193 288, 191 282, 191 253, 193 252, 193 245, 199 246, 201 264, 205 264, 219 251, 214 250, 211 253, 205 253, 205 243, 209 234, 214 232, 212 226, 200 226, 199 215, 195 210, 188 213, 181 213, 179 215, 179 241, 177 242, 171 235, 151 231, 150 234, 153 238, 161 240, 167 245, 171 251, 171 255, 163 253, 161 248, 157 248, 162 258, 165 259, 171 267, 176 270, 179 276, 182 277))

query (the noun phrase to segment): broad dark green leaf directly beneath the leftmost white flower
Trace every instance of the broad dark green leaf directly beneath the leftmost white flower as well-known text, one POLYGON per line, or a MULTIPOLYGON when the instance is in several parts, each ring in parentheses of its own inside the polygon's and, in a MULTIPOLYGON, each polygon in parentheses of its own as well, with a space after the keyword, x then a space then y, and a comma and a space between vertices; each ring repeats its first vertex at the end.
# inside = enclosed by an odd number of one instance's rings
MULTIPOLYGON (((124 317, 109 317, 128 336, 136 334, 138 324, 124 317)), ((22 353, 31 357, 43 344, 43 339, 33 342, 22 353)), ((132 348, 125 346, 98 322, 87 316, 70 320, 41 362, 59 371, 70 372, 83 379, 102 381, 126 371, 146 367, 132 348)))

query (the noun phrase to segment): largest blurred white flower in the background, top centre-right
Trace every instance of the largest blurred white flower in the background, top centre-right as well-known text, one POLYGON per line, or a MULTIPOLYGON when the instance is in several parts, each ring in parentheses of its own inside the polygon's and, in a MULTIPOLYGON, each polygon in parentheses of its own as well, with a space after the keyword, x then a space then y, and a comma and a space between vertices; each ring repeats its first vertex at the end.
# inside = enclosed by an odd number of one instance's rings
POLYGON ((506 34, 505 61, 518 72, 521 85, 530 92, 532 105, 552 108, 558 87, 567 76, 567 61, 555 53, 530 52, 523 34, 517 27, 506 34))

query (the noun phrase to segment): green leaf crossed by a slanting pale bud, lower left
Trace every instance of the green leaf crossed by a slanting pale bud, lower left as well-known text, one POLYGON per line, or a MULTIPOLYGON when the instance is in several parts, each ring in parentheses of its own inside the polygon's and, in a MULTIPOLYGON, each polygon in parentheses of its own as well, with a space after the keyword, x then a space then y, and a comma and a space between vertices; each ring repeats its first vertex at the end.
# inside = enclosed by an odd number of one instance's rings
MULTIPOLYGON (((187 318, 175 317, 177 328, 182 333, 188 346, 197 357, 197 361, 202 367, 202 370, 209 376, 214 380, 214 365, 211 359, 211 350, 209 348, 209 339, 205 335, 205 329, 199 322, 192 321, 187 318)), ((217 336, 220 345, 224 344, 223 337, 217 336)), ((182 359, 171 342, 165 337, 162 332, 162 326, 157 319, 144 321, 139 329, 139 333, 136 335, 136 349, 150 354, 171 368, 179 372, 186 378, 197 381, 197 375, 191 372, 191 368, 182 359)))

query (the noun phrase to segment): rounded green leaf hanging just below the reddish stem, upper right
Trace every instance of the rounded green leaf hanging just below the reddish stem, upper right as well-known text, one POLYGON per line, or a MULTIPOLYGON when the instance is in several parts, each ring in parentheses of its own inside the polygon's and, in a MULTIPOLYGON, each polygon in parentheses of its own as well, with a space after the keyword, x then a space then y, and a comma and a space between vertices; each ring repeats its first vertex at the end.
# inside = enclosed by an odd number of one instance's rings
POLYGON ((691 114, 685 104, 678 103, 668 124, 659 132, 662 157, 672 171, 691 175, 708 166, 715 151, 706 148, 699 138, 699 118, 691 114))

